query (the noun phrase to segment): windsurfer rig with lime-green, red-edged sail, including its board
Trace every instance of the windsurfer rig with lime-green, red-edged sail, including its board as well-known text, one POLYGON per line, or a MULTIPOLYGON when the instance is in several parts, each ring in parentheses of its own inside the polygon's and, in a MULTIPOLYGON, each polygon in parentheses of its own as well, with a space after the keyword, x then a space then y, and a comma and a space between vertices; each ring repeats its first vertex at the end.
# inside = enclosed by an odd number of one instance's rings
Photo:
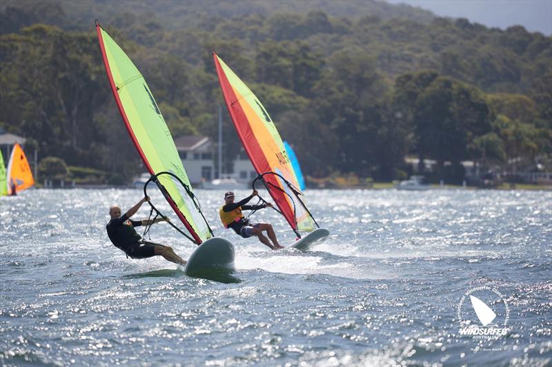
MULTIPOLYGON (((98 21, 96 30, 113 97, 128 134, 150 173, 144 195, 147 195, 148 184, 155 183, 179 218, 179 224, 172 221, 169 224, 199 246, 190 255, 184 271, 188 275, 210 268, 233 271, 234 246, 224 238, 213 237, 175 141, 144 76, 98 21)), ((151 201, 149 203, 152 211, 163 216, 151 201)))

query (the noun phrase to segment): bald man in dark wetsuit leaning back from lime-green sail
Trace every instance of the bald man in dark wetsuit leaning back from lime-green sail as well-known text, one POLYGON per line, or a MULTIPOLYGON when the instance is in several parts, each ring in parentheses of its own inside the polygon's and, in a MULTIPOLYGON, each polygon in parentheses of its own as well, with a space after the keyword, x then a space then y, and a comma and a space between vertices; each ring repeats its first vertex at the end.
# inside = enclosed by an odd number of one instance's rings
POLYGON ((137 205, 128 209, 122 216, 121 208, 116 205, 109 208, 111 220, 106 226, 109 239, 115 247, 124 251, 124 253, 132 259, 145 259, 159 255, 175 264, 185 265, 186 261, 182 260, 175 251, 172 251, 172 248, 162 244, 145 241, 136 233, 134 227, 151 225, 165 220, 163 218, 156 218, 155 220, 130 220, 130 217, 134 216, 141 205, 146 201, 150 201, 149 196, 140 200, 137 205))

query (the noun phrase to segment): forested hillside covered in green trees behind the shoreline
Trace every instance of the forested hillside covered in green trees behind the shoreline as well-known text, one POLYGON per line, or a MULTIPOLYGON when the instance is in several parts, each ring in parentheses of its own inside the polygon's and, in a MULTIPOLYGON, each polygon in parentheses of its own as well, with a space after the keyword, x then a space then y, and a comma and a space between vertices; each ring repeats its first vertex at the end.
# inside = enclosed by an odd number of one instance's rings
MULTIPOLYGON (((216 137, 215 49, 310 176, 390 180, 404 176, 406 154, 437 160, 456 182, 460 160, 551 164, 552 38, 519 26, 371 1, 19 1, 0 17, 0 127, 112 182, 139 163, 95 18, 144 74, 174 136, 216 137)), ((224 118, 230 158, 239 142, 224 118)))

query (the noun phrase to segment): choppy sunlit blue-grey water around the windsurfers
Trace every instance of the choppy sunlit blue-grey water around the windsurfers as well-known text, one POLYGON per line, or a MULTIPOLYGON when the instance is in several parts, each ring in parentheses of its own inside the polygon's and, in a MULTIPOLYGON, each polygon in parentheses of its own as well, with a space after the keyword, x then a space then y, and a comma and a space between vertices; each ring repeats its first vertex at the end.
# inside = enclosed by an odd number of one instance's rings
MULTIPOLYGON (((236 244, 239 283, 112 247, 109 205, 126 210, 141 191, 0 198, 0 364, 551 364, 550 191, 311 190, 333 235, 308 253, 224 232, 221 192, 197 195, 215 234, 236 244), (477 286, 506 298, 509 331, 497 340, 459 333, 457 305, 477 286)), ((293 240, 274 211, 257 220, 293 240)), ((166 224, 152 240, 183 257, 195 248, 166 224)), ((504 303, 478 297, 503 324, 504 303)), ((462 317, 477 319, 469 301, 462 317)))

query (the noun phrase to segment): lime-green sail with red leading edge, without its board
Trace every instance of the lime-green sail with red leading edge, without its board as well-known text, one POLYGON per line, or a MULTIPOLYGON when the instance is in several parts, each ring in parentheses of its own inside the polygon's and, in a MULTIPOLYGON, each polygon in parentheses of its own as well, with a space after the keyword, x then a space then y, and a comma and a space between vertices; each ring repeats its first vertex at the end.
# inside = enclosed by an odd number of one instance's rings
POLYGON ((150 174, 168 171, 177 176, 179 180, 170 175, 157 179, 166 189, 168 204, 190 237, 200 244, 212 234, 193 198, 181 187, 183 182, 190 190, 190 181, 150 87, 109 34, 99 24, 96 29, 111 91, 132 143, 150 174))

